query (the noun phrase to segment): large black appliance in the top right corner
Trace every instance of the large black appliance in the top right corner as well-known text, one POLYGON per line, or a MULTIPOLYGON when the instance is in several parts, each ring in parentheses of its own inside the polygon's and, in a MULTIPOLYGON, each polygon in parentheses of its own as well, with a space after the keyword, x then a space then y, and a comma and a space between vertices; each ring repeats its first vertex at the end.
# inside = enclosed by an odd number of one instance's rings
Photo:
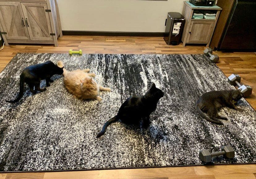
POLYGON ((216 49, 256 49, 256 0, 237 0, 216 49))

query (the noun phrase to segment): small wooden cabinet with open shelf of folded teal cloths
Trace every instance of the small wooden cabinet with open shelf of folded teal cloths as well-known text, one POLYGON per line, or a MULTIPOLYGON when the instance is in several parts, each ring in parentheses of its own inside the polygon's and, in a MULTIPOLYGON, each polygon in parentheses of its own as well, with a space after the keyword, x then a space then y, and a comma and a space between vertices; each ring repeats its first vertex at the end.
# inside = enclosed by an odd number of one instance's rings
POLYGON ((191 6, 188 2, 184 1, 182 15, 185 17, 185 26, 182 34, 183 46, 186 44, 207 44, 209 46, 211 37, 217 23, 220 7, 197 7, 191 6), (213 10, 216 12, 215 19, 192 19, 194 10, 205 11, 213 10))

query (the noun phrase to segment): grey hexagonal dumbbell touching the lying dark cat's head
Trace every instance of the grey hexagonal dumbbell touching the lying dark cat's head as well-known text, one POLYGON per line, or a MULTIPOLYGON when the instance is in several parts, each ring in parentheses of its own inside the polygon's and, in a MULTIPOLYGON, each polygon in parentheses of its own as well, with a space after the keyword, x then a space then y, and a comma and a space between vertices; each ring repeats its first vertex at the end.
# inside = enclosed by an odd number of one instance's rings
POLYGON ((232 74, 228 77, 228 83, 235 86, 238 86, 238 89, 241 89, 241 93, 244 94, 244 97, 248 97, 252 94, 252 87, 249 85, 241 85, 241 77, 237 74, 232 74))

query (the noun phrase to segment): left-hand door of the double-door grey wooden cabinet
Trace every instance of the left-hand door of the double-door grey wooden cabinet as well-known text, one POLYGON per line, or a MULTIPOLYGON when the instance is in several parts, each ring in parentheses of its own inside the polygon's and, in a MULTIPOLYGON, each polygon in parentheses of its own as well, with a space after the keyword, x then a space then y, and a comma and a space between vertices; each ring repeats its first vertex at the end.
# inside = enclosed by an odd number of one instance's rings
POLYGON ((7 40, 30 39, 19 2, 0 2, 0 23, 7 40))

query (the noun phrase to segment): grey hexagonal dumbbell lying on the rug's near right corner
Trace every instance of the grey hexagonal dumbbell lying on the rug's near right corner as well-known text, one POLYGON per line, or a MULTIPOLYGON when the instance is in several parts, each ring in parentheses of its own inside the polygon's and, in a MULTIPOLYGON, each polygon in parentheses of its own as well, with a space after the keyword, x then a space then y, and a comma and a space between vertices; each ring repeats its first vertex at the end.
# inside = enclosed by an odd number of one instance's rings
POLYGON ((211 153, 208 149, 199 151, 199 158, 205 163, 211 162, 213 156, 221 155, 233 159, 235 157, 235 151, 230 145, 221 147, 221 151, 219 152, 211 153))

